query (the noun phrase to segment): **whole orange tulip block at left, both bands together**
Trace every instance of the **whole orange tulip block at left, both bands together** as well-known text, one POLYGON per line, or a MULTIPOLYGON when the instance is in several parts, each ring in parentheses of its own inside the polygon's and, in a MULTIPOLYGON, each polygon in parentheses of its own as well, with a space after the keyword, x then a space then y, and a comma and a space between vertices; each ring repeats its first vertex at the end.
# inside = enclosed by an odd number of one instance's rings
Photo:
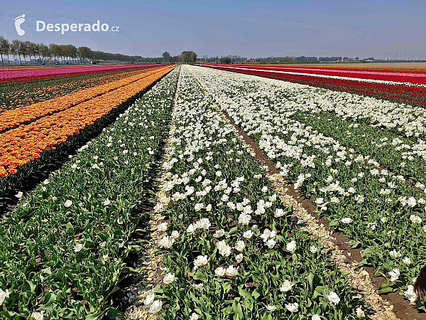
POLYGON ((0 176, 5 179, 1 190, 48 161, 57 147, 70 146, 72 139, 93 132, 97 122, 169 71, 168 66, 150 68, 122 80, 2 112, 0 176))

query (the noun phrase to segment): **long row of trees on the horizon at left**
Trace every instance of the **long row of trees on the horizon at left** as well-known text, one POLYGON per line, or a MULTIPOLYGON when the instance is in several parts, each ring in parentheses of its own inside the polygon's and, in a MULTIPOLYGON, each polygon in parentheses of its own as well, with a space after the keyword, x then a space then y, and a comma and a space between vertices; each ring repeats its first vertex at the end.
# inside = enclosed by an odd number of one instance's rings
POLYGON ((4 56, 10 64, 9 55, 13 55, 13 60, 19 59, 26 63, 26 58, 35 60, 37 63, 90 63, 93 60, 111 62, 141 62, 141 63, 161 63, 162 58, 142 58, 140 55, 122 55, 120 53, 107 53, 94 51, 88 47, 77 48, 74 45, 57 45, 50 43, 33 43, 31 41, 13 40, 11 43, 0 36, 1 63, 4 64, 4 56))

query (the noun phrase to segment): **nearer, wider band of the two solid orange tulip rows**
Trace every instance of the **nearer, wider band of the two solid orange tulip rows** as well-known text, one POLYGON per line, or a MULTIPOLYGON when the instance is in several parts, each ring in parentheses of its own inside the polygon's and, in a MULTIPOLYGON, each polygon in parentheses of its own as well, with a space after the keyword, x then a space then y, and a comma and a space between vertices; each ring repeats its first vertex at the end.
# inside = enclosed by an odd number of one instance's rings
POLYGON ((55 148, 94 124, 170 70, 170 66, 157 69, 155 73, 129 85, 0 134, 0 176, 16 174, 18 167, 40 158, 44 151, 55 148))

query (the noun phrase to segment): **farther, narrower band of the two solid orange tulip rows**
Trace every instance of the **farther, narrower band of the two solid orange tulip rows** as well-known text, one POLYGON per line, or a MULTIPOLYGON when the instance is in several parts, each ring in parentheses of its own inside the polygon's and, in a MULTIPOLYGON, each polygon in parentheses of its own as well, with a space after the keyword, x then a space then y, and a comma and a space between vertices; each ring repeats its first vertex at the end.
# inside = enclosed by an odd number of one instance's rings
POLYGON ((66 110, 72 106, 78 105, 81 102, 97 97, 98 95, 103 95, 104 93, 110 92, 111 90, 116 90, 119 87, 124 87, 125 85, 129 85, 132 82, 146 78, 153 73, 158 73, 165 68, 167 67, 141 70, 137 75, 107 83, 105 85, 99 85, 97 87, 80 90, 70 95, 56 97, 52 100, 44 102, 38 102, 34 105, 28 105, 27 107, 8 110, 0 114, 0 132, 3 132, 7 129, 16 128, 21 124, 31 122, 40 117, 45 117, 48 114, 53 114, 54 112, 66 110))

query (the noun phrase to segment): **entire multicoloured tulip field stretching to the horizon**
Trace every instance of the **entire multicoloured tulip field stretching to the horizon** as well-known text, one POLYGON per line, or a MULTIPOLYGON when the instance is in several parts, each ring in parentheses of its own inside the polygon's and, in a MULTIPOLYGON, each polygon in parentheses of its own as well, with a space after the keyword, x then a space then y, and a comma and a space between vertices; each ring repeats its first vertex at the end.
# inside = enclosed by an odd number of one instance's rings
POLYGON ((0 69, 0 319, 426 319, 425 90, 383 68, 0 69))

